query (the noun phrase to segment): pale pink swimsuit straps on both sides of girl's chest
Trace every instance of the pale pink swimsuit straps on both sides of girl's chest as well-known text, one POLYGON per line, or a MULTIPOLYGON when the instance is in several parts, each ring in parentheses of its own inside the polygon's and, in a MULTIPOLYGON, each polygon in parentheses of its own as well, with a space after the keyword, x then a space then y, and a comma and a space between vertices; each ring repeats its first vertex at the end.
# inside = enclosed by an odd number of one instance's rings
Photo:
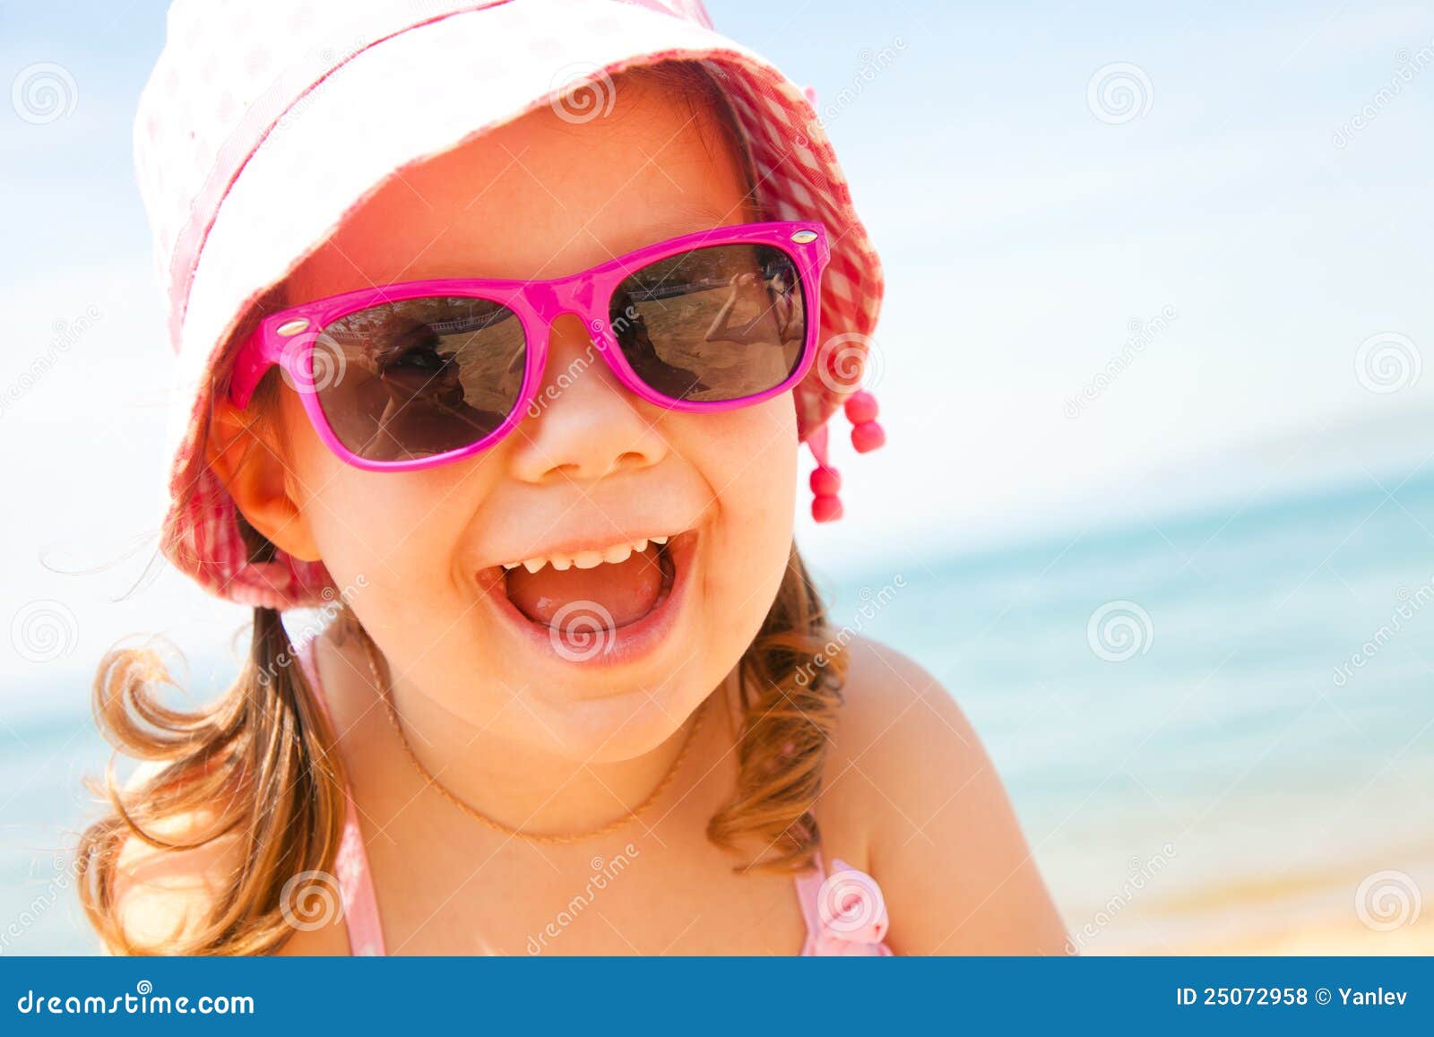
MULTIPOLYGON (((333 720, 328 703, 318 683, 318 666, 314 660, 314 641, 297 648, 300 666, 314 690, 318 707, 333 720)), ((374 894, 373 872, 369 868, 369 852, 364 848, 363 832, 358 828, 358 810, 354 806, 351 789, 344 789, 346 816, 344 833, 334 858, 334 878, 344 905, 344 924, 348 929, 348 952, 353 955, 383 955, 383 922, 379 917, 379 898, 374 894)), ((797 902, 806 919, 806 942, 802 954, 807 957, 888 957, 886 902, 876 879, 850 868, 840 858, 832 858, 830 875, 822 865, 820 852, 812 868, 796 876, 797 902)))

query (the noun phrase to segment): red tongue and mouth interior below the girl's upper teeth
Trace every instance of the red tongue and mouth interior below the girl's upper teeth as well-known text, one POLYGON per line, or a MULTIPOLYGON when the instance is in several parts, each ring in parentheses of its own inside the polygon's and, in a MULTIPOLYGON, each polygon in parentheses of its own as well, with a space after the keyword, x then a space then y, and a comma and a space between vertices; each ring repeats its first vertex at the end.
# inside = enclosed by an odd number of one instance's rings
POLYGON ((625 562, 605 562, 591 569, 558 572, 545 565, 538 572, 519 567, 508 572, 508 600, 518 611, 545 627, 554 621, 562 633, 579 625, 625 627, 652 611, 663 591, 663 565, 657 546, 628 555, 625 562))

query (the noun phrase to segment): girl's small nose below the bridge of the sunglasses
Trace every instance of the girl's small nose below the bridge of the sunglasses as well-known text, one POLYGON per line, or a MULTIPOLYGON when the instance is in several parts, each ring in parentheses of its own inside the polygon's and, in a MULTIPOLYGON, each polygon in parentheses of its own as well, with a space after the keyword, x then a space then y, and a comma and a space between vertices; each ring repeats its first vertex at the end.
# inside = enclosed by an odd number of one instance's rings
POLYGON ((512 475, 531 483, 595 480, 667 456, 655 407, 628 393, 572 313, 549 330, 543 383, 515 430, 512 475))

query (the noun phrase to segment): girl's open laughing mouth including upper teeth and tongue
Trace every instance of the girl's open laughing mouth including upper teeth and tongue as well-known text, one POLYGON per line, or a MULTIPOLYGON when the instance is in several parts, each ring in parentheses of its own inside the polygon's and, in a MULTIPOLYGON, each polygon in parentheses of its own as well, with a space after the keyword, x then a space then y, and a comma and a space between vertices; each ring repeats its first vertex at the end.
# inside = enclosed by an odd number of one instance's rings
POLYGON ((502 592, 518 615, 555 638, 587 643, 635 633, 663 611, 677 581, 678 559, 694 531, 508 562, 502 592))

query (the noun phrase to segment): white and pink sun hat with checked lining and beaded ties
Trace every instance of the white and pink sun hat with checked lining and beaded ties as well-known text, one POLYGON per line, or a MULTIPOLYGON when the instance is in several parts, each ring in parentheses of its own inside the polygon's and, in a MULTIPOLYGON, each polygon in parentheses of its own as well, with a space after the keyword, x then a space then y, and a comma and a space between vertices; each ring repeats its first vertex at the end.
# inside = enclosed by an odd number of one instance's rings
POLYGON ((880 262, 815 98, 718 34, 701 0, 176 0, 139 100, 135 165, 178 357, 159 546, 181 572, 247 605, 334 594, 323 564, 250 561, 204 459, 212 393, 254 304, 406 166, 543 105, 599 118, 612 75, 661 60, 700 62, 721 87, 766 219, 826 224, 822 346, 794 396, 819 460, 813 511, 840 512, 826 420, 845 403, 858 449, 879 443, 875 400, 858 389, 880 262))

